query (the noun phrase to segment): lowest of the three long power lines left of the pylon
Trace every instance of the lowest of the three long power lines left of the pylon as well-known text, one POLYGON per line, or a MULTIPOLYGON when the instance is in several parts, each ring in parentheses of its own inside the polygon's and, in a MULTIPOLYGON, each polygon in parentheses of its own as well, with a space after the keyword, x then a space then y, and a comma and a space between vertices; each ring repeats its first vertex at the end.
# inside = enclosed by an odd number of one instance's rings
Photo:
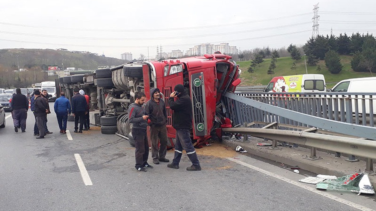
MULTIPOLYGON (((234 42, 234 41, 245 41, 245 40, 252 40, 252 39, 262 39, 262 38, 270 38, 276 36, 284 36, 284 35, 291 35, 303 32, 309 32, 311 30, 303 30, 299 32, 289 32, 277 35, 268 35, 268 36, 259 36, 253 38, 243 38, 243 39, 233 39, 233 40, 224 40, 224 41, 215 41, 212 43, 222 43, 222 42, 234 42)), ((21 41, 21 40, 12 40, 12 39, 0 39, 1 41, 9 41, 9 42, 21 42, 21 43, 32 43, 32 44, 42 44, 42 45, 59 45, 59 46, 76 46, 76 47, 98 47, 98 48, 147 48, 150 45, 140 45, 140 46, 120 46, 120 45, 79 45, 79 44, 61 44, 61 43, 47 43, 47 42, 33 42, 33 41, 21 41)), ((199 45, 201 43, 193 43, 193 44, 176 44, 176 45, 164 45, 165 47, 176 47, 176 46, 189 46, 189 45, 199 45)))

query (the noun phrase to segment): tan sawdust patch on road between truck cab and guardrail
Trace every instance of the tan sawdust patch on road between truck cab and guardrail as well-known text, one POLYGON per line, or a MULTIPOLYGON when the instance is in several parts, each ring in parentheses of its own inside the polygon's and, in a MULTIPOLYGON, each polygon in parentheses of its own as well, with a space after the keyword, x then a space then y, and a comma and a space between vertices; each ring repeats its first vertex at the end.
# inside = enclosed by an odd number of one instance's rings
POLYGON ((237 152, 222 143, 211 143, 211 146, 204 146, 203 148, 196 149, 197 154, 214 156, 220 158, 234 157, 237 152))

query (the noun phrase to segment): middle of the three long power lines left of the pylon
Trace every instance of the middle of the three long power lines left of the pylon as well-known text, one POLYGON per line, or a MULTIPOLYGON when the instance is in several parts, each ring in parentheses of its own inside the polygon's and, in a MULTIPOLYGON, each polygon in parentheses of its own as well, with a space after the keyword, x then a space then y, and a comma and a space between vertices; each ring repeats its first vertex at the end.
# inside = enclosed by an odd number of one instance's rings
POLYGON ((85 39, 85 40, 113 40, 113 41, 116 41, 116 40, 118 40, 118 41, 136 41, 136 40, 182 39, 182 38, 199 38, 199 37, 206 37, 206 36, 232 35, 232 34, 238 34, 238 33, 257 32, 257 31, 270 30, 270 29, 281 29, 281 28, 291 27, 291 26, 300 26, 300 25, 304 25, 304 24, 308 24, 308 23, 310 23, 310 22, 288 24, 288 25, 284 25, 284 26, 275 26, 275 27, 268 27, 268 28, 261 28, 261 29, 244 30, 244 31, 237 31, 237 32, 224 32, 224 33, 215 33, 215 34, 206 34, 206 35, 188 35, 188 36, 174 36, 174 37, 153 37, 153 38, 96 38, 96 37, 44 35, 44 34, 33 34, 33 33, 22 33, 22 32, 7 32, 7 31, 0 31, 0 33, 11 34, 11 35, 25 35, 25 36, 48 37, 48 38, 68 38, 68 39, 85 39))

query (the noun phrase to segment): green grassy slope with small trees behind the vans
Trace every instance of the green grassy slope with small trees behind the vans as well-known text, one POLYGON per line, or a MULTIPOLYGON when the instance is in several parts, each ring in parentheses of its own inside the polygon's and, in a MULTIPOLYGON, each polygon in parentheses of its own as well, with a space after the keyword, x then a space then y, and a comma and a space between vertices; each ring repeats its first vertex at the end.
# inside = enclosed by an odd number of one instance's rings
MULTIPOLYGON (((332 74, 328 71, 325 66, 324 60, 320 60, 317 65, 320 65, 321 71, 317 71, 317 66, 308 66, 308 74, 323 74, 327 83, 327 88, 333 87, 338 81, 347 78, 361 78, 361 77, 371 77, 369 72, 355 72, 351 69, 350 61, 352 56, 340 56, 341 64, 343 65, 342 71, 339 74, 332 74)), ((274 69, 274 75, 268 75, 268 71, 271 59, 264 59, 264 62, 260 66, 256 66, 255 72, 252 74, 248 72, 248 68, 251 61, 237 62, 242 70, 240 78, 242 80, 241 86, 256 86, 256 85, 267 85, 272 77, 283 76, 283 75, 296 75, 296 74, 306 74, 304 57, 296 63, 296 71, 292 71, 290 68, 293 65, 293 60, 291 57, 281 57, 277 59, 276 66, 274 69)))

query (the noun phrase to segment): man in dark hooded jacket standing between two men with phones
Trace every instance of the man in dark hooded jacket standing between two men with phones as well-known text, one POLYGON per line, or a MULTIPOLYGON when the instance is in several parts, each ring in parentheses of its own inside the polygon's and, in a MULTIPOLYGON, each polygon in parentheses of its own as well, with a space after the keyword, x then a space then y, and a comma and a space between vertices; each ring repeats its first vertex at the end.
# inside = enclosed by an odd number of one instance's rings
POLYGON ((154 164, 170 162, 166 159, 167 152, 167 111, 158 88, 150 89, 150 100, 146 103, 146 114, 149 115, 150 141, 152 142, 152 158, 154 164), (158 138, 161 145, 158 149, 158 138))

